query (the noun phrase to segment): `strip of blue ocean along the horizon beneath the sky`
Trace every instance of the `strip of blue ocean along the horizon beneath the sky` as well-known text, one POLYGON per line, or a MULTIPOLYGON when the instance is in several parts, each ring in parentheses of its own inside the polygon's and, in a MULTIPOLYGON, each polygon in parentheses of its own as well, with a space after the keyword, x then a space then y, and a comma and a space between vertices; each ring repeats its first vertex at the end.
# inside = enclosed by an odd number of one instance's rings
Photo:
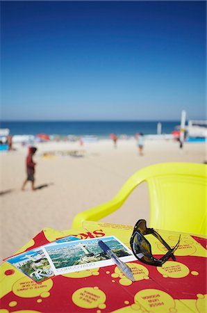
MULTIPOLYGON (((162 134, 170 134, 174 128, 180 124, 180 121, 158 121, 162 124, 162 134)), ((92 122, 92 121, 71 121, 71 122, 10 122, 3 121, 0 123, 0 128, 10 129, 11 135, 74 135, 74 136, 90 136, 108 137, 114 133, 117 136, 126 134, 126 136, 134 136, 137 133, 157 134, 157 121, 133 121, 133 122, 92 122)))

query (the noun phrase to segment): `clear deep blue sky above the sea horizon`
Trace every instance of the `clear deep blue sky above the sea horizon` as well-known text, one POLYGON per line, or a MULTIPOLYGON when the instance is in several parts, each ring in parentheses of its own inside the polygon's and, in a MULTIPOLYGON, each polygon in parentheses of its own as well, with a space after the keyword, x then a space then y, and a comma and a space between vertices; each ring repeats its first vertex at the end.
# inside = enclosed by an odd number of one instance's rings
POLYGON ((1 1, 2 120, 206 118, 206 1, 1 1))

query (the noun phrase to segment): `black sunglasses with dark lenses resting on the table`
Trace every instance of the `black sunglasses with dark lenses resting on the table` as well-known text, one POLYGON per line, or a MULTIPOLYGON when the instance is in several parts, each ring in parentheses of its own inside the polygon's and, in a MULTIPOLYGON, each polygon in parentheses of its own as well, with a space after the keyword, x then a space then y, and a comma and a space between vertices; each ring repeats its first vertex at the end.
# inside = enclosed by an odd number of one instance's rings
POLYGON ((170 248, 167 242, 160 236, 160 234, 158 234, 158 232, 156 232, 153 228, 147 228, 146 220, 138 220, 133 229, 133 234, 131 235, 130 246, 133 254, 139 261, 149 265, 162 266, 170 257, 174 261, 176 260, 173 253, 176 248, 178 248, 180 239, 181 235, 179 236, 179 241, 176 243, 174 248, 170 248), (160 259, 156 259, 152 255, 151 244, 144 237, 144 235, 146 234, 152 234, 161 243, 163 243, 163 246, 165 246, 165 248, 167 248, 168 250, 166 255, 163 255, 163 257, 161 257, 160 259))

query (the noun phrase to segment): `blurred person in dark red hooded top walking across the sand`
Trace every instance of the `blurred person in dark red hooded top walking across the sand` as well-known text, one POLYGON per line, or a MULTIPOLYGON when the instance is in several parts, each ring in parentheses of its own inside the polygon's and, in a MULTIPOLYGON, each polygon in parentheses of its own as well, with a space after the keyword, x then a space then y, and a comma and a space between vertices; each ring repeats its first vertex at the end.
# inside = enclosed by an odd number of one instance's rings
POLYGON ((33 155, 35 154, 35 152, 37 151, 36 147, 29 147, 28 148, 28 155, 26 157, 26 180, 24 181, 23 185, 22 185, 22 191, 24 191, 24 188, 26 186, 27 182, 31 182, 31 188, 34 191, 35 187, 35 165, 36 163, 33 161, 33 155))

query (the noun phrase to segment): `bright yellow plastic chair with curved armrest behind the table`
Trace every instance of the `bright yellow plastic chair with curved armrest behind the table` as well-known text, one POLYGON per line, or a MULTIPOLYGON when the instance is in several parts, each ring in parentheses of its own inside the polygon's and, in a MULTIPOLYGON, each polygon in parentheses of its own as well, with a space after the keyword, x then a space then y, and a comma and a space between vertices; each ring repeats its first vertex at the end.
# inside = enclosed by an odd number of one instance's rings
MULTIPOLYGON (((158 163, 138 170, 113 200, 77 214, 73 228, 119 209, 142 182, 149 188, 151 227, 206 234, 206 165, 198 163, 158 163)), ((139 211, 137 216, 142 218, 139 211)))

